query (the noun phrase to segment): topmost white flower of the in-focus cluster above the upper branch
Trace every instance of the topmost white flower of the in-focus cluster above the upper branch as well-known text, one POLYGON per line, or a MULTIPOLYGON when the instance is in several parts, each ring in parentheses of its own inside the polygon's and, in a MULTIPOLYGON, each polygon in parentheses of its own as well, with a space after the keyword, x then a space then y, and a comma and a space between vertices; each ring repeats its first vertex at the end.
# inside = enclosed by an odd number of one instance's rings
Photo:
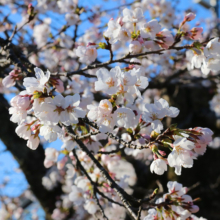
POLYGON ((134 10, 129 10, 128 8, 125 8, 122 11, 122 14, 123 22, 137 23, 144 20, 144 14, 141 8, 135 8, 134 10))

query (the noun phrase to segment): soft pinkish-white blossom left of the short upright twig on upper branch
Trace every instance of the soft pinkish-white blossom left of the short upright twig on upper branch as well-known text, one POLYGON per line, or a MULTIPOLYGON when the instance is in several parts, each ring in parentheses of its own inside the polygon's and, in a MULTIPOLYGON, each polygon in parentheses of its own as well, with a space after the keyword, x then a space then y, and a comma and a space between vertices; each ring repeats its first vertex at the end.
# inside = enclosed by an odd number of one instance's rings
POLYGON ((76 49, 76 55, 80 58, 82 63, 92 63, 97 58, 97 50, 95 46, 78 46, 76 49))

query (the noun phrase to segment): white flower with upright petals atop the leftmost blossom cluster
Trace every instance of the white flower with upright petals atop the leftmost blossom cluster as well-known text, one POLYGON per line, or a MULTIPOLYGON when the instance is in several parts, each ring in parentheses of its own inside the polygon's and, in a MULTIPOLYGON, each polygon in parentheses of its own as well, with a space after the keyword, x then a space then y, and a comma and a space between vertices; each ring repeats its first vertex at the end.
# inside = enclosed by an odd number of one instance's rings
POLYGON ((44 72, 38 68, 34 68, 35 77, 26 77, 24 78, 24 87, 26 88, 27 92, 33 94, 35 91, 44 92, 44 89, 47 89, 47 92, 50 91, 50 88, 46 85, 46 83, 50 79, 50 72, 47 70, 46 75, 44 72))

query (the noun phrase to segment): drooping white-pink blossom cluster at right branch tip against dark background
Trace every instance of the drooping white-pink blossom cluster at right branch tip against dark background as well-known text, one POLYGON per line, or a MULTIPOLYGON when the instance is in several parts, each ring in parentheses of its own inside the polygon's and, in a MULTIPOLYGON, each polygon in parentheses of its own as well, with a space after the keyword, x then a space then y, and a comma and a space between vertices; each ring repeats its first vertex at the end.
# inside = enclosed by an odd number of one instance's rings
POLYGON ((191 168, 193 159, 203 155, 207 145, 212 141, 213 132, 208 128, 196 127, 189 130, 171 129, 166 138, 162 140, 163 146, 168 147, 171 153, 166 156, 164 151, 152 147, 154 161, 151 164, 151 172, 162 175, 167 170, 167 163, 175 168, 175 173, 181 175, 182 167, 191 168))

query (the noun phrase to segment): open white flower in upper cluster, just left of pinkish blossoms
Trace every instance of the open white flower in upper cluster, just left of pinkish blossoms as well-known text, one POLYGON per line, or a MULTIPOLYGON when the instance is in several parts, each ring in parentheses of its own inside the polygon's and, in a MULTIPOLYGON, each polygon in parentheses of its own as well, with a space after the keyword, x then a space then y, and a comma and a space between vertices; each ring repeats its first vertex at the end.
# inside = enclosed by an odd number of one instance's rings
POLYGON ((150 38, 154 39, 156 34, 160 31, 161 25, 158 23, 156 19, 149 21, 144 24, 143 28, 140 29, 142 38, 150 38))

